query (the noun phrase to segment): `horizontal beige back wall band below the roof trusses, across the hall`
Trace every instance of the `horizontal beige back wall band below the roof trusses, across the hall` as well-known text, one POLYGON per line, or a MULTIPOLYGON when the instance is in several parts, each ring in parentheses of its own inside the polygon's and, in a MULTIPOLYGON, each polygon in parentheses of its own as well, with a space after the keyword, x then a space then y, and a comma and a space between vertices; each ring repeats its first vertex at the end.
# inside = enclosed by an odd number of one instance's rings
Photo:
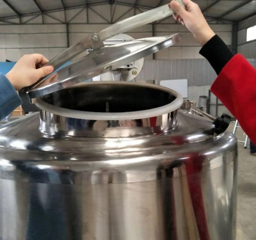
MULTIPOLYGON (((69 24, 69 44, 73 45, 85 36, 106 28, 107 24, 69 24)), ((231 25, 212 25, 217 34, 231 44, 231 25)), ((156 54, 156 59, 202 59, 200 46, 186 28, 177 24, 156 24, 155 35, 180 33, 182 40, 156 54)), ((152 37, 152 25, 145 25, 127 33, 133 38, 152 37)), ((68 46, 65 24, 0 25, 0 61, 17 61, 22 55, 42 53, 52 58, 68 46)), ((152 55, 147 58, 152 59, 152 55)))

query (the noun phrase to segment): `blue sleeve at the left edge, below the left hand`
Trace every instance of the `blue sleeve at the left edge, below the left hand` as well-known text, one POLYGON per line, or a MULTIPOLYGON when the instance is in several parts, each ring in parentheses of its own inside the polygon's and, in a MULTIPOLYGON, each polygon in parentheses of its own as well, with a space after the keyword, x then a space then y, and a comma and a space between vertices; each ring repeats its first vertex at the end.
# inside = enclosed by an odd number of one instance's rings
POLYGON ((21 103, 20 96, 10 81, 0 73, 0 120, 12 113, 21 103))

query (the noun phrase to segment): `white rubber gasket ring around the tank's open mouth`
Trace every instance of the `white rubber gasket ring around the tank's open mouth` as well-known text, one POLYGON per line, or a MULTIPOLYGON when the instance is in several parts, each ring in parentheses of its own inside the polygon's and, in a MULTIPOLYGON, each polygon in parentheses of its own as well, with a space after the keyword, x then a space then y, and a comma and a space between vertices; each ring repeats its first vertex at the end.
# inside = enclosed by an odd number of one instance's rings
MULTIPOLYGON (((121 113, 96 113, 96 112, 85 112, 85 111, 79 111, 79 110, 71 110, 68 108, 58 107, 51 105, 49 103, 44 102, 41 98, 35 99, 35 105, 40 108, 43 111, 53 113, 59 116, 64 116, 68 118, 76 118, 76 119, 85 119, 85 120, 133 120, 133 119, 144 119, 144 118, 151 118, 160 116, 166 113, 173 112, 180 108, 180 106, 183 104, 183 98, 182 96, 169 88, 153 85, 153 84, 146 84, 146 83, 128 83, 128 82, 87 82, 83 84, 79 84, 79 87, 81 85, 97 85, 97 84, 123 84, 123 85, 134 85, 134 86, 142 86, 142 87, 148 87, 148 88, 154 88, 158 90, 162 90, 168 93, 171 93, 173 96, 176 97, 174 101, 171 103, 157 107, 152 108, 149 110, 142 110, 142 111, 135 111, 135 112, 121 112, 121 113)), ((152 96, 153 98, 154 96, 152 96)))

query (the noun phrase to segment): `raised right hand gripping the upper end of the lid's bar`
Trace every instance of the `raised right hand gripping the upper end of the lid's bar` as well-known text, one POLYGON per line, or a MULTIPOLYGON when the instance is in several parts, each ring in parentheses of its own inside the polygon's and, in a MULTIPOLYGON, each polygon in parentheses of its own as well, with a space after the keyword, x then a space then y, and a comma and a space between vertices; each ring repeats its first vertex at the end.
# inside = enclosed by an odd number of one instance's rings
POLYGON ((173 18, 178 20, 182 25, 185 25, 193 34, 194 39, 203 46, 215 33, 206 22, 202 11, 196 3, 191 0, 182 1, 186 9, 176 1, 171 1, 170 6, 175 11, 173 18))

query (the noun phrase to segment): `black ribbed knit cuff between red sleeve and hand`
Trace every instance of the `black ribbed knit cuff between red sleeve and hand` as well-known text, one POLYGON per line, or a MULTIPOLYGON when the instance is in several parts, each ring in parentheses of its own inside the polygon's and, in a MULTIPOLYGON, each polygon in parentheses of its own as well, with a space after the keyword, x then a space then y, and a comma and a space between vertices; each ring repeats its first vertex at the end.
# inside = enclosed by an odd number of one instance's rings
POLYGON ((199 53, 210 62, 217 75, 234 56, 218 35, 205 43, 199 53))

